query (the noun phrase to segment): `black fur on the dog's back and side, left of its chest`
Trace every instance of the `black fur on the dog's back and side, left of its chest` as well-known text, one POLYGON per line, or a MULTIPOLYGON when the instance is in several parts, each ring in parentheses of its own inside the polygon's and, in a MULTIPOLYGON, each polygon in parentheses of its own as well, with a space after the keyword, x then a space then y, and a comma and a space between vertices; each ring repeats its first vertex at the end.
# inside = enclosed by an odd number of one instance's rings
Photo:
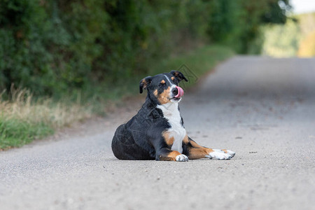
POLYGON ((162 147, 162 132, 169 127, 156 103, 146 97, 137 115, 116 130, 113 153, 121 160, 155 160, 158 158, 155 148, 162 147))

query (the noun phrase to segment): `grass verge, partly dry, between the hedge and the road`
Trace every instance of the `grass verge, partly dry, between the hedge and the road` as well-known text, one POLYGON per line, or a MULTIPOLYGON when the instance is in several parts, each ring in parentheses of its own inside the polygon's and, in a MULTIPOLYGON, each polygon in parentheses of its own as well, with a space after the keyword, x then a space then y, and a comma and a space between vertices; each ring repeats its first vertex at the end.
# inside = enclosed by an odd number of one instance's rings
MULTIPOLYGON (((232 57, 228 47, 211 45, 192 50, 184 55, 169 57, 152 64, 151 76, 171 70, 182 71, 191 87, 216 64, 232 57)), ((47 137, 58 128, 71 125, 90 116, 104 113, 108 103, 120 102, 123 97, 139 94, 139 81, 148 75, 138 75, 127 80, 118 80, 94 87, 92 92, 77 94, 77 99, 60 100, 34 99, 28 90, 10 90, 10 100, 0 95, 0 150, 20 147, 34 139, 47 137), (85 98, 85 103, 80 103, 85 98)))

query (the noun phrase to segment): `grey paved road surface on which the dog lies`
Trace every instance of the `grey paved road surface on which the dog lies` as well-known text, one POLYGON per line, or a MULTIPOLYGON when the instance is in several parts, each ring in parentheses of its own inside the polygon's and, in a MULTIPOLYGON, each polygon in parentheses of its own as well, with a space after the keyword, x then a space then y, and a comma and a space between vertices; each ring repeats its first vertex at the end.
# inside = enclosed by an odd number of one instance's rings
POLYGON ((315 59, 234 57, 186 92, 190 137, 232 160, 117 160, 113 133, 142 102, 1 152, 0 209, 315 208, 315 59))

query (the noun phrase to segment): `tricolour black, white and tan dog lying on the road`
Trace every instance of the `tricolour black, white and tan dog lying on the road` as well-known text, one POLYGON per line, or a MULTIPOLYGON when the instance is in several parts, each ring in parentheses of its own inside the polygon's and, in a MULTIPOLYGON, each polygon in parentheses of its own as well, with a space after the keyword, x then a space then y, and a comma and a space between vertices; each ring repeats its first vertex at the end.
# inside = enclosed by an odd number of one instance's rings
POLYGON ((172 160, 185 162, 199 158, 230 160, 235 152, 200 146, 188 137, 179 102, 188 81, 180 71, 147 76, 139 91, 147 90, 146 102, 131 120, 120 125, 111 148, 120 160, 172 160))

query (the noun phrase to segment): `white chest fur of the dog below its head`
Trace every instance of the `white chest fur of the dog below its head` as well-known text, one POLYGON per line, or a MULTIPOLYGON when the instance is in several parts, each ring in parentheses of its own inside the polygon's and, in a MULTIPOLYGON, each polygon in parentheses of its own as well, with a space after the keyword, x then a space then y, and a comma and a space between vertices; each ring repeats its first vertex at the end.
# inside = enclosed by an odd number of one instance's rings
POLYGON ((167 118, 171 127, 169 132, 170 137, 174 137, 174 143, 172 145, 172 151, 183 152, 183 139, 186 137, 186 130, 181 125, 181 114, 179 113, 179 103, 168 103, 157 106, 162 110, 165 118, 167 118))

